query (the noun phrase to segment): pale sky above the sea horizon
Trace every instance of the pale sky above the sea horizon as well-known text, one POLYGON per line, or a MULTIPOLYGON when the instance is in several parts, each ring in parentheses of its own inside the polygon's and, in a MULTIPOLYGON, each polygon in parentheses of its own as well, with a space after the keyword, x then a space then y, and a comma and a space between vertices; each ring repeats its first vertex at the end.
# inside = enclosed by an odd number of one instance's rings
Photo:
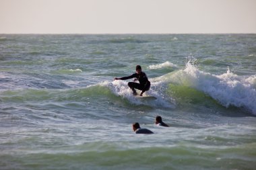
POLYGON ((0 0, 0 34, 256 33, 256 0, 0 0))

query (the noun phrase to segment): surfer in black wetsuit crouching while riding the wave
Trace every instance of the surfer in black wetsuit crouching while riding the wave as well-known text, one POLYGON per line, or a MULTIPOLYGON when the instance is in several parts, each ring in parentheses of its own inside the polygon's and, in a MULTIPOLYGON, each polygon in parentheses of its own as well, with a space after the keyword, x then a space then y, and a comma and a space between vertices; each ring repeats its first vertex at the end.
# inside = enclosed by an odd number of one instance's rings
POLYGON ((134 81, 139 81, 139 83, 135 83, 135 82, 128 83, 128 86, 133 91, 133 95, 137 95, 137 92, 135 89, 141 90, 141 93, 139 94, 140 96, 142 96, 145 91, 148 91, 150 89, 150 81, 148 81, 148 77, 146 73, 142 72, 140 65, 136 66, 136 73, 134 73, 133 75, 130 75, 127 77, 121 77, 121 78, 115 77, 115 80, 127 80, 132 78, 135 78, 134 81))

